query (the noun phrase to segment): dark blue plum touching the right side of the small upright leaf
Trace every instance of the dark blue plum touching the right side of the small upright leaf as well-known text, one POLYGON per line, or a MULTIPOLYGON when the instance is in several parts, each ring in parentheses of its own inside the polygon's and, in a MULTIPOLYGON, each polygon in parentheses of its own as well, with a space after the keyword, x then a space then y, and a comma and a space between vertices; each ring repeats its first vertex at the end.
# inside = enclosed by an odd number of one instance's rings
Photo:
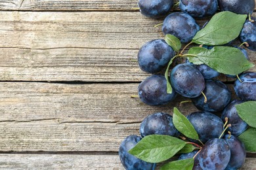
POLYGON ((203 143, 219 137, 223 132, 223 120, 211 112, 192 112, 187 118, 198 132, 199 139, 203 143))

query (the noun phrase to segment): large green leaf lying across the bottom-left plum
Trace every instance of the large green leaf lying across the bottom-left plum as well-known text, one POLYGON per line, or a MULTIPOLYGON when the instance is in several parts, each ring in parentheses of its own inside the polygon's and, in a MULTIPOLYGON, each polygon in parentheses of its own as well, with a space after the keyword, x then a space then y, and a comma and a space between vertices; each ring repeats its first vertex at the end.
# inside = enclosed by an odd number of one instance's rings
POLYGON ((148 135, 129 150, 129 153, 140 160, 158 163, 173 157, 185 144, 181 139, 169 135, 148 135))

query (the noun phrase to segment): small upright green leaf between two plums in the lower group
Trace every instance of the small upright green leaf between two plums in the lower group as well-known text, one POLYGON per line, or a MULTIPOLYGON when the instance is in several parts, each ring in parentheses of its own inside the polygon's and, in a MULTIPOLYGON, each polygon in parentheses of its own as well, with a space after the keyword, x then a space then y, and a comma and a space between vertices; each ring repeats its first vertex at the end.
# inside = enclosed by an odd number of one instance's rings
POLYGON ((192 126, 186 116, 181 114, 176 107, 173 109, 173 124, 176 129, 186 137, 199 140, 198 133, 194 129, 194 126, 192 126))

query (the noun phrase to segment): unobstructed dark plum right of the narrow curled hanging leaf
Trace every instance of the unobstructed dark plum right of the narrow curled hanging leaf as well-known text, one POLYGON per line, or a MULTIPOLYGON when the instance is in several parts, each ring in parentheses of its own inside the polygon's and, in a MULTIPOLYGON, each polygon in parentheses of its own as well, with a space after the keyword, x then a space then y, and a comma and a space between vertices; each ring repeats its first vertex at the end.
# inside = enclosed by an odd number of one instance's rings
POLYGON ((176 65, 170 80, 175 91, 184 97, 198 97, 205 88, 203 75, 190 63, 176 65))

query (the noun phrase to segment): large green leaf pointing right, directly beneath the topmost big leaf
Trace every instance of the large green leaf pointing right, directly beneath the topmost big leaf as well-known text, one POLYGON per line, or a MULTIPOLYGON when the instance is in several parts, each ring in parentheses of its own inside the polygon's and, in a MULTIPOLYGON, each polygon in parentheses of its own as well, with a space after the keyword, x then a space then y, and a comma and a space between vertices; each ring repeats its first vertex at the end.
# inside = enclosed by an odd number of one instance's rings
MULTIPOLYGON (((238 48, 231 46, 214 46, 211 50, 200 50, 198 48, 201 47, 190 48, 189 54, 196 54, 195 59, 198 58, 219 73, 238 75, 254 66, 238 48)), ((190 59, 193 63, 194 58, 190 59)), ((198 61, 198 59, 195 61, 198 61)))

